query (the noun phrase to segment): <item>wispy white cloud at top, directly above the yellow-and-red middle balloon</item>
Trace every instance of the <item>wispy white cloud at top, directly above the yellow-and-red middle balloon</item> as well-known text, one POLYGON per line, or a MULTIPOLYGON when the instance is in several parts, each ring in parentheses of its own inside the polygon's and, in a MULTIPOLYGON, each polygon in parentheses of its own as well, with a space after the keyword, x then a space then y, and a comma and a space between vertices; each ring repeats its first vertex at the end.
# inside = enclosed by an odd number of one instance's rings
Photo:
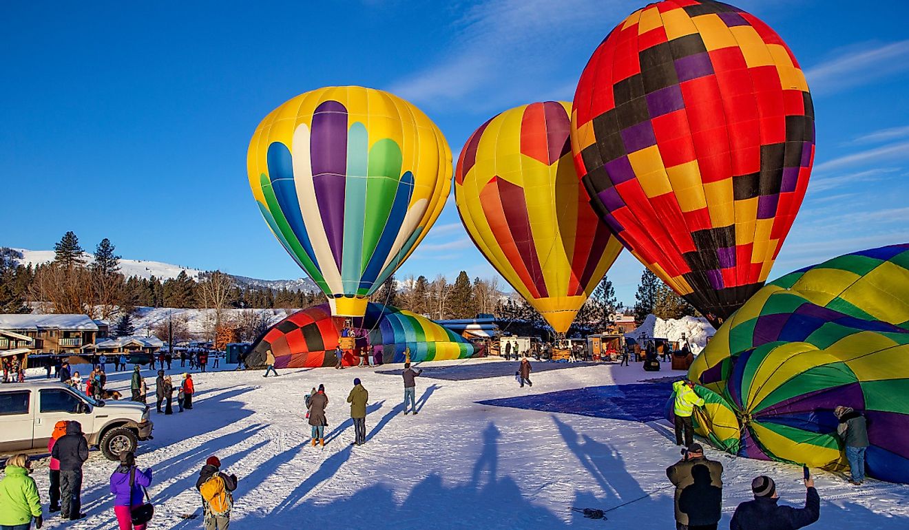
POLYGON ((634 11, 630 0, 504 0, 467 8, 454 21, 454 43, 437 65, 405 76, 390 90, 424 105, 484 112, 545 96, 570 97, 589 55, 634 11), (566 72, 565 57, 574 68, 566 72))

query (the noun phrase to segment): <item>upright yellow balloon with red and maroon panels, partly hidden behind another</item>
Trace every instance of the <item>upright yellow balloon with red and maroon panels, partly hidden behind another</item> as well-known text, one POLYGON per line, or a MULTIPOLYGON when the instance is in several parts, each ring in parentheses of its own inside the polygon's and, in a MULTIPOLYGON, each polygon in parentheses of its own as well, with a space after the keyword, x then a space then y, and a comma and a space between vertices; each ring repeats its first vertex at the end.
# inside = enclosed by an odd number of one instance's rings
POLYGON ((622 250, 574 171, 569 108, 547 101, 494 116, 467 140, 454 174, 474 244, 557 334, 622 250))

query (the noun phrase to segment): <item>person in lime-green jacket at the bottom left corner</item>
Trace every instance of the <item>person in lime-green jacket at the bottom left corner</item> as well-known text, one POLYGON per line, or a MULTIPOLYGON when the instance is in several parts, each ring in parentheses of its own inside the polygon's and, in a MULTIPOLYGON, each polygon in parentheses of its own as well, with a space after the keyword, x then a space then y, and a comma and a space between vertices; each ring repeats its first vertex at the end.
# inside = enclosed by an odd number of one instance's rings
POLYGON ((41 497, 31 473, 27 455, 15 455, 6 460, 6 476, 0 480, 0 530, 28 530, 35 519, 41 528, 41 497))

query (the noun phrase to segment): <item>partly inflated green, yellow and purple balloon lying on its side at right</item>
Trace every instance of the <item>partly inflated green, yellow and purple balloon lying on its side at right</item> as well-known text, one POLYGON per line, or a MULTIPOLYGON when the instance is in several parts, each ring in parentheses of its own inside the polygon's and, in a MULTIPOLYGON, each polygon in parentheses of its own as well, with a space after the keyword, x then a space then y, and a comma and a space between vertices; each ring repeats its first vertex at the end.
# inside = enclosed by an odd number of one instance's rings
POLYGON ((699 431, 734 454, 843 470, 844 405, 867 419, 868 473, 909 483, 907 359, 909 245, 835 257, 765 285, 694 360, 688 377, 723 398, 699 431))

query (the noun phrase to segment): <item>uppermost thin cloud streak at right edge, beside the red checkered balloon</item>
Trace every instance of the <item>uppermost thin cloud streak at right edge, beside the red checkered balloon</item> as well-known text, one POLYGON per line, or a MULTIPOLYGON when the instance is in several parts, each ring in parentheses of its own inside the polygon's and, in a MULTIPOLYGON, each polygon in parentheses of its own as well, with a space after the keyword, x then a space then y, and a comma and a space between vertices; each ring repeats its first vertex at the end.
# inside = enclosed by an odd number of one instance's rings
POLYGON ((833 94, 906 69, 909 69, 909 39, 864 43, 840 50, 826 62, 805 70, 804 75, 812 93, 833 94))

